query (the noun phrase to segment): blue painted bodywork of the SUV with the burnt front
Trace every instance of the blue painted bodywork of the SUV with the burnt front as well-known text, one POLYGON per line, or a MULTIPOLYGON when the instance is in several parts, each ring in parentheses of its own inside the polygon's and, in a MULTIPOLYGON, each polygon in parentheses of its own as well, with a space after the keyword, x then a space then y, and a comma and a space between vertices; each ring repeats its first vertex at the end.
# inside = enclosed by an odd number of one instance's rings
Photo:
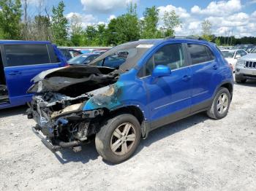
POLYGON ((137 106, 143 112, 145 119, 151 122, 181 110, 189 114, 192 112, 192 106, 213 98, 223 82, 233 85, 233 73, 215 44, 195 39, 155 40, 154 46, 140 58, 136 66, 121 74, 115 84, 117 94, 105 96, 105 98, 98 98, 96 95, 86 102, 83 110, 103 107, 113 110, 123 106, 137 106), (176 43, 206 45, 214 54, 215 59, 192 65, 188 54, 185 58, 188 63, 187 67, 171 72, 164 68, 165 74, 159 77, 138 77, 140 69, 143 69, 148 59, 159 48, 166 44, 176 43), (167 72, 170 74, 167 75, 167 72), (102 103, 98 103, 99 100, 102 103))

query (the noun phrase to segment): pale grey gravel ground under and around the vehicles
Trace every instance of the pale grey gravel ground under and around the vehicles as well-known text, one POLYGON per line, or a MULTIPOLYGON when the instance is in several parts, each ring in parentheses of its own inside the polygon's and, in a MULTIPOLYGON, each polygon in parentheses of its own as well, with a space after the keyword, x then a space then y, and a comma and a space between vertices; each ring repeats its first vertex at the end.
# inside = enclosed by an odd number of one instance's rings
POLYGON ((235 85, 223 120, 197 114, 151 132, 111 165, 94 143, 55 155, 34 135, 26 107, 0 111, 0 190, 255 190, 256 82, 235 85))

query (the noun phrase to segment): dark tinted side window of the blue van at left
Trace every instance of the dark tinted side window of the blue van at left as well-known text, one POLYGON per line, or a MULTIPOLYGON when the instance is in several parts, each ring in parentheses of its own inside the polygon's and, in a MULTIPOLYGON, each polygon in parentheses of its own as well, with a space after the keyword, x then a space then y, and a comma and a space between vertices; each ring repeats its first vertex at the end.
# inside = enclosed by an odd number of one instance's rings
POLYGON ((5 44, 7 66, 27 66, 50 63, 46 44, 5 44))

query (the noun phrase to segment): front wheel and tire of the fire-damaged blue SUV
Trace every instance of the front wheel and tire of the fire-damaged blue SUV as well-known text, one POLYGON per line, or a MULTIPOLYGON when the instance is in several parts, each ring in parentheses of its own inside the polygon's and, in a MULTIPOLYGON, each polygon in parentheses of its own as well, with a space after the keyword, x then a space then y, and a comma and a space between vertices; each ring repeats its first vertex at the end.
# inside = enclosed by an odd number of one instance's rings
POLYGON ((96 134, 95 146, 103 159, 110 163, 121 163, 135 152, 140 137, 141 128, 136 117, 120 114, 105 122, 96 134))

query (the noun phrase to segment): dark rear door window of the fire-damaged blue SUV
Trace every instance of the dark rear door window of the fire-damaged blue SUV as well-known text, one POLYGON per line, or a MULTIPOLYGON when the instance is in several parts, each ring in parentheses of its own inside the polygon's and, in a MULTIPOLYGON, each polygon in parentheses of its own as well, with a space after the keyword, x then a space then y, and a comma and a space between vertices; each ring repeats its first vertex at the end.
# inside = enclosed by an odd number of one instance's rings
POLYGON ((214 55, 208 47, 200 44, 187 44, 193 64, 204 63, 214 60, 214 55), (208 57, 209 55, 209 57, 208 57))

